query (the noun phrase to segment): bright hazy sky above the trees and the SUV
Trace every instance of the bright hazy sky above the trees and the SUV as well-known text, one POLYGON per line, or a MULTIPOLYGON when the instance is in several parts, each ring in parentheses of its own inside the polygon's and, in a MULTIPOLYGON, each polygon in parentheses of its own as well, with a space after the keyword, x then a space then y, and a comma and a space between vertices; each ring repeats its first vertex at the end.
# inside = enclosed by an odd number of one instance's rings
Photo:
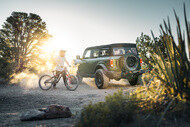
POLYGON ((53 35, 49 50, 65 49, 71 60, 89 46, 158 36, 167 16, 175 30, 173 8, 183 22, 183 2, 189 20, 190 0, 0 0, 0 28, 13 11, 38 14, 53 35))

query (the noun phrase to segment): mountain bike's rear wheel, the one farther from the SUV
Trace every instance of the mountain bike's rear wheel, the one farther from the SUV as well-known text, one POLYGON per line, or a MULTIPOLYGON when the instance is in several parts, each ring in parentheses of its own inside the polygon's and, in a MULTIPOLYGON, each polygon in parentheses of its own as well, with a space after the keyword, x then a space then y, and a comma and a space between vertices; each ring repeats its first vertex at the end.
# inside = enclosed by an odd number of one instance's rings
POLYGON ((52 78, 50 75, 43 75, 39 79, 39 87, 42 90, 49 90, 54 82, 54 78, 52 78))

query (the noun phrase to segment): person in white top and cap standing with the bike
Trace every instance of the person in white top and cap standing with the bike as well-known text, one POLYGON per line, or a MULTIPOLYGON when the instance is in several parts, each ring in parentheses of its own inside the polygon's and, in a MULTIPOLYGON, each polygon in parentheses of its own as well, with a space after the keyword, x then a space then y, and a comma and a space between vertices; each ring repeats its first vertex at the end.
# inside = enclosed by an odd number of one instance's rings
MULTIPOLYGON (((65 58, 65 53, 66 53, 66 50, 59 51, 59 55, 56 58, 56 69, 55 69, 56 75, 59 74, 61 71, 63 71, 62 76, 63 76, 64 83, 66 82, 65 62, 69 67, 71 67, 69 62, 65 58)), ((55 87, 56 87, 56 83, 53 84, 53 88, 55 87)))

